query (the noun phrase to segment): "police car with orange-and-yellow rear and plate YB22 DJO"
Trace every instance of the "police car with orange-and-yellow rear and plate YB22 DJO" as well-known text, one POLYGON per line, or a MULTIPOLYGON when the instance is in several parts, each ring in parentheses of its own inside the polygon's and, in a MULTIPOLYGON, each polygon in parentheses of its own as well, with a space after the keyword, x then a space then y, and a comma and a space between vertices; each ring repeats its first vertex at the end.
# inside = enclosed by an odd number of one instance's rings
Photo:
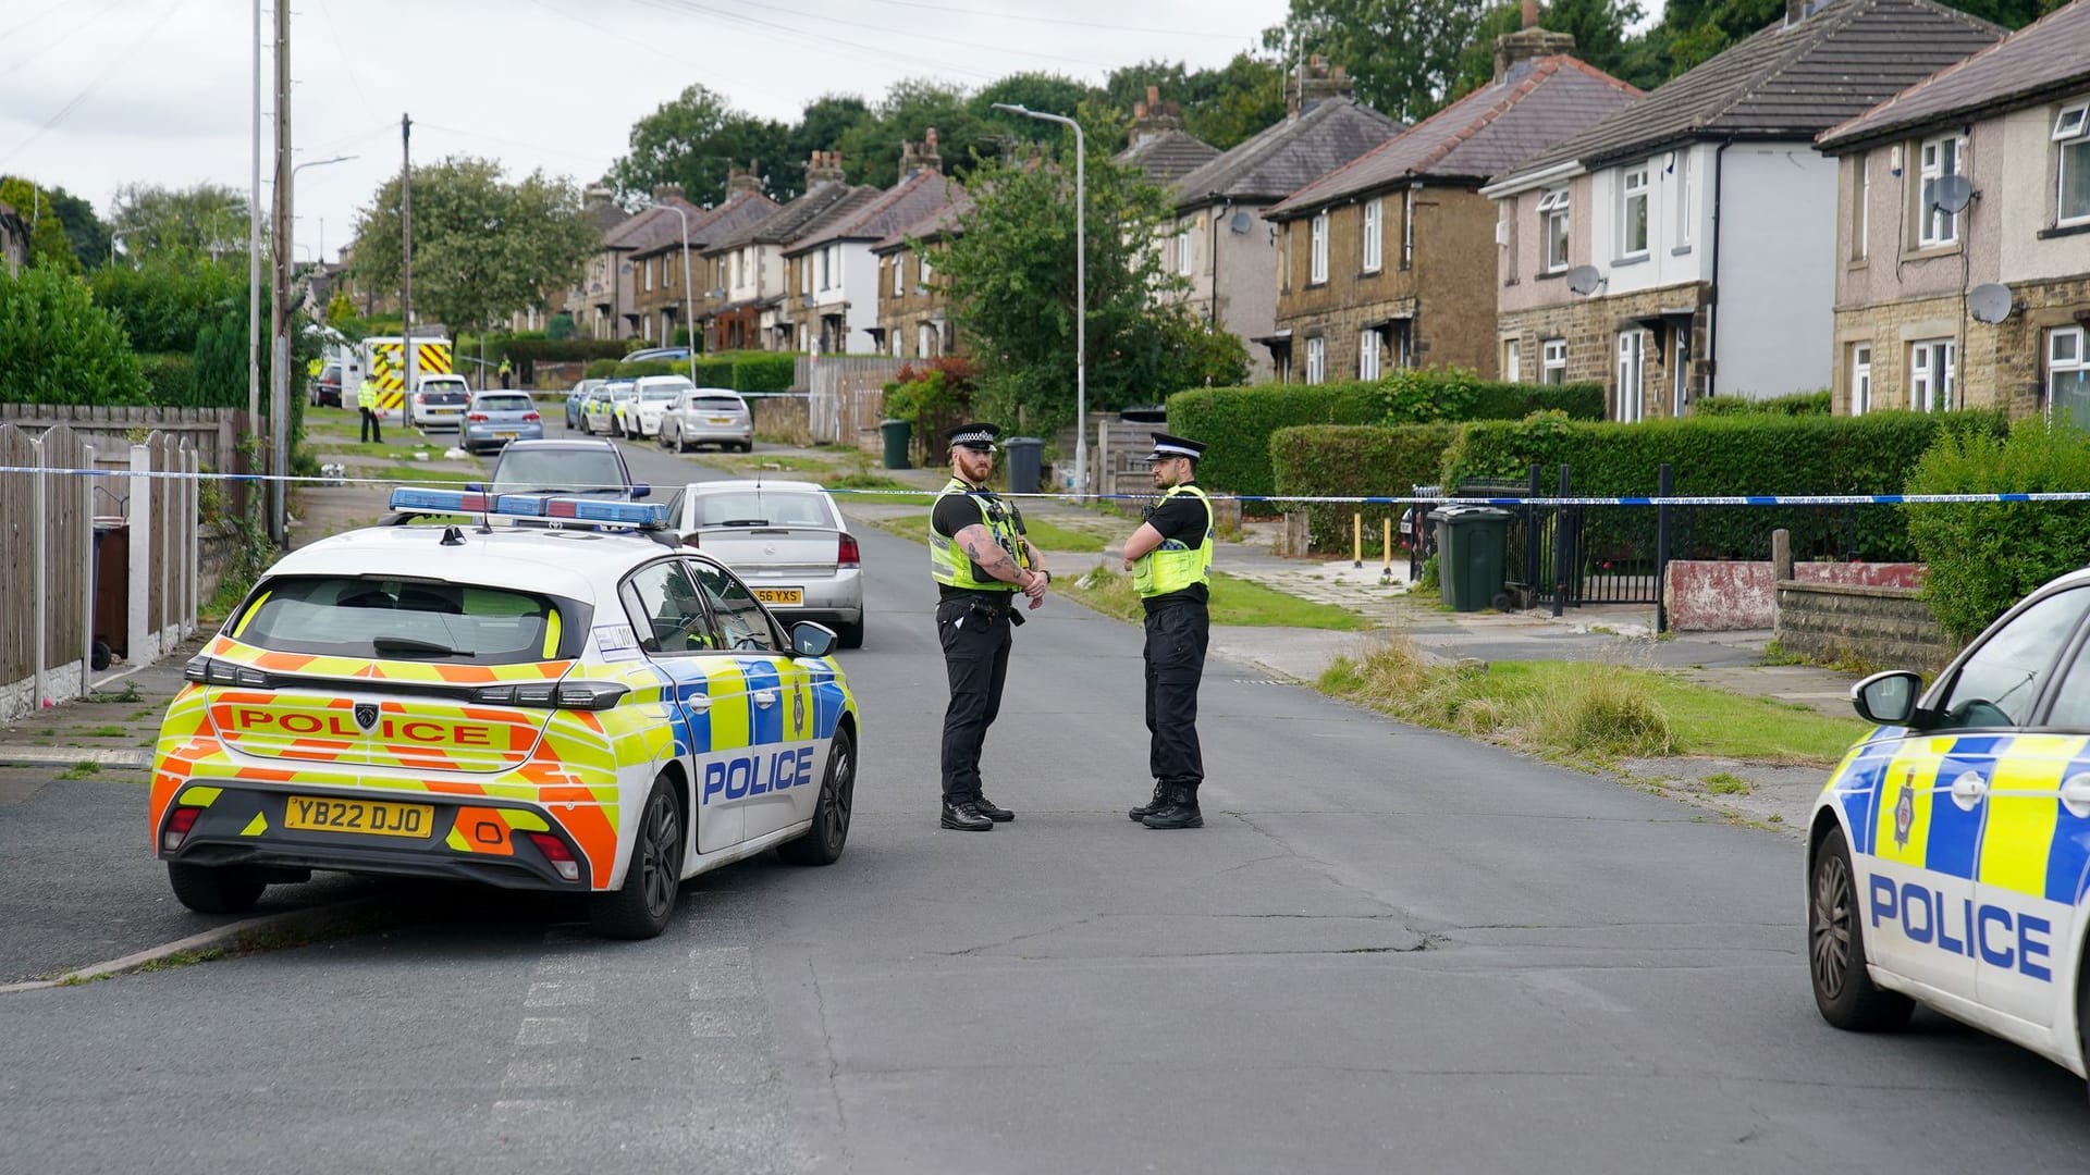
POLYGON ((188 663, 150 790, 176 897, 226 914, 311 870, 587 895, 658 935, 683 878, 832 863, 857 705, 667 506, 397 489, 470 525, 284 556, 188 663), (533 525, 504 525, 504 523, 533 525))

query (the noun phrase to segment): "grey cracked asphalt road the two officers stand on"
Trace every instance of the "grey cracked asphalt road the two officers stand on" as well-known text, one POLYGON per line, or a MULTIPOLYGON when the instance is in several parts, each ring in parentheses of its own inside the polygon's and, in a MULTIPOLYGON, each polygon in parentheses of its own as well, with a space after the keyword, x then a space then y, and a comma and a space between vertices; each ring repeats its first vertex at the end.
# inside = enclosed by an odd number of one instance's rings
POLYGON ((1066 602, 986 746, 1018 820, 938 830, 926 554, 863 558, 840 863, 706 874, 650 943, 431 891, 382 935, 0 995, 0 1167, 2086 1167, 2061 1068, 1818 1020, 1787 838, 1225 663, 1208 826, 1139 828, 1137 631, 1066 602))

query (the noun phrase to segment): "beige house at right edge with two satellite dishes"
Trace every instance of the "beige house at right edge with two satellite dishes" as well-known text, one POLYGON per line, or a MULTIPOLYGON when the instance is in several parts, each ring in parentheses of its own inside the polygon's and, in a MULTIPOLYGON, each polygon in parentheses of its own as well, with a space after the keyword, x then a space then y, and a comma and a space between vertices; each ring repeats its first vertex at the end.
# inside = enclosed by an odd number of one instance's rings
POLYGON ((2090 4, 1902 90, 1820 148, 1839 192, 1835 410, 2067 410, 2090 427, 2090 4), (1954 201, 1950 176, 1973 199, 1954 201), (2008 291, 2000 322, 1969 299, 1992 282, 2008 291))

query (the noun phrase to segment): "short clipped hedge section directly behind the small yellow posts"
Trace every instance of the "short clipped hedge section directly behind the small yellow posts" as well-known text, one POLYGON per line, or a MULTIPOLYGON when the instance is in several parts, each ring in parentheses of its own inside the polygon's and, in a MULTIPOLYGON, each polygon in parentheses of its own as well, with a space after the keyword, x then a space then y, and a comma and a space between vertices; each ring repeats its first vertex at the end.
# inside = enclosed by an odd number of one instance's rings
MULTIPOLYGON (((1279 429, 1271 435, 1271 466, 1277 493, 1331 498, 1386 498, 1430 485, 1444 466, 1444 450, 1461 424, 1306 424, 1279 429)), ((1204 470, 1198 470, 1204 481, 1204 470)), ((1296 506, 1294 506, 1296 508, 1296 506)), ((1394 523, 1400 542, 1404 506, 1304 506, 1315 550, 1348 550, 1350 516, 1365 514, 1365 550, 1377 552, 1386 535, 1384 521, 1394 523)))

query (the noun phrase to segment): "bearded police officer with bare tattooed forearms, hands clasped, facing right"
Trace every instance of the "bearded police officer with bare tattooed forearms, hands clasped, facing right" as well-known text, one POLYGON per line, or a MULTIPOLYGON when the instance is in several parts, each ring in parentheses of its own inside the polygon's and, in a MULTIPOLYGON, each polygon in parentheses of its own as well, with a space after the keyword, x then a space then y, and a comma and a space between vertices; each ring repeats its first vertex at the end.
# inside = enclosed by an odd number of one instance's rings
POLYGON ((980 792, 980 748, 1001 711, 1009 673, 1009 633, 1024 623, 1016 594, 1030 608, 1045 602, 1051 573, 1024 537, 1024 519, 986 479, 995 468, 995 424, 959 424, 951 443, 951 481, 936 498, 928 525, 928 567, 936 579, 936 638, 951 677, 943 713, 943 826, 989 832, 1016 820, 980 792))

